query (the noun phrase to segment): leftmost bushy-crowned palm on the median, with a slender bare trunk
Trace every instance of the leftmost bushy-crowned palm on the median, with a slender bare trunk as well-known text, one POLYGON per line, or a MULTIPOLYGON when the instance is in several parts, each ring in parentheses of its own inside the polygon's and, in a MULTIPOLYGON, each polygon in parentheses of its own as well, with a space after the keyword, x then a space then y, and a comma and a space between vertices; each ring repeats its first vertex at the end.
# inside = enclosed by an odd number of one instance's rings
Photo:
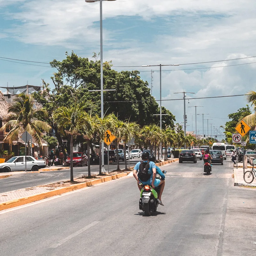
POLYGON ((81 131, 91 129, 91 118, 85 112, 86 104, 80 103, 70 107, 59 107, 53 112, 53 122, 57 124, 60 131, 70 135, 70 181, 74 181, 73 176, 73 140, 81 131), (85 128, 87 127, 87 128, 85 128))

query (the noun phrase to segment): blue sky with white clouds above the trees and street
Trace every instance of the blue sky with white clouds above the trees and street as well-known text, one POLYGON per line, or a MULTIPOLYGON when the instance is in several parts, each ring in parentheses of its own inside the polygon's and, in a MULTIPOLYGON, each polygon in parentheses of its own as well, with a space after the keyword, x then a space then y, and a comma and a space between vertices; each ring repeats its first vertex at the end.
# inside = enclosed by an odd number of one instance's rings
MULTIPOLYGON (((104 60, 114 66, 182 64, 255 56, 256 3, 253 0, 117 0, 103 2, 104 60)), ((100 52, 99 3, 84 0, 0 0, 0 56, 49 62, 65 52, 91 57, 100 52)), ((200 65, 163 67, 163 99, 243 94, 255 89, 256 58, 200 65)), ((44 65, 44 64, 43 64, 44 65)), ((115 68, 122 70, 125 68, 115 68)), ((128 69, 128 68, 127 68, 128 69)), ((150 71, 151 68, 134 68, 150 71)), ((153 70, 158 68, 154 67, 153 70)), ((0 60, 0 84, 5 86, 51 83, 51 68, 0 60)), ((150 72, 141 77, 150 83, 150 72)), ((159 99, 159 72, 154 72, 153 95, 159 99)), ((190 100, 201 105, 216 127, 229 113, 246 104, 244 97, 190 100)), ((182 122, 183 102, 164 101, 182 122)), ((200 110, 199 110, 200 111, 200 110)), ((188 108, 187 130, 195 130, 194 109, 188 108), (192 122, 193 118, 193 122, 192 122)), ((198 127, 202 133, 202 119, 198 127)), ((210 120, 209 120, 210 122, 210 120)), ((205 122, 205 126, 207 122, 205 122)))

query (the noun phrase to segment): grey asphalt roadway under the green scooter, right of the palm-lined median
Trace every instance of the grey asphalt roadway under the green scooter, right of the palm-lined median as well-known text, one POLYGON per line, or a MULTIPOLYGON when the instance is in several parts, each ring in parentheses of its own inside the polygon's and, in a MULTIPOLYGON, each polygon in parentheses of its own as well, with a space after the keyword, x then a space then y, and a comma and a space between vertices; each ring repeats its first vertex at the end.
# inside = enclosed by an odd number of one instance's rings
POLYGON ((234 187, 230 159, 173 163, 154 216, 133 177, 0 212, 1 255, 255 255, 255 192, 234 187))

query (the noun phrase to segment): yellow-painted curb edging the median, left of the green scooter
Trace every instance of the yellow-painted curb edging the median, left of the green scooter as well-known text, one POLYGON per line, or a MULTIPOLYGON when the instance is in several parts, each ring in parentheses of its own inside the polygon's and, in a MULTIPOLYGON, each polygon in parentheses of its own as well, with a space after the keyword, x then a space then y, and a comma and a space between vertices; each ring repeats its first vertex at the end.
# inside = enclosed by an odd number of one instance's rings
MULTIPOLYGON (((35 201, 39 201, 39 200, 42 200, 42 199, 45 199, 45 198, 48 198, 48 197, 61 195, 61 194, 64 194, 64 193, 67 193, 67 192, 70 192, 70 191, 73 191, 73 190, 77 190, 77 189, 80 189, 80 188, 90 187, 90 186, 95 185, 95 184, 100 184, 100 183, 107 182, 107 181, 110 181, 110 180, 119 179, 119 178, 127 176, 129 173, 130 172, 113 174, 109 177, 104 177, 104 178, 100 178, 100 179, 96 179, 96 180, 91 180, 91 181, 83 182, 83 183, 80 183, 80 184, 74 184, 74 185, 71 185, 71 186, 68 186, 68 187, 65 187, 65 188, 56 188, 52 191, 45 192, 45 193, 42 193, 42 194, 37 194, 37 195, 33 195, 33 196, 28 196, 28 197, 23 197, 23 198, 7 201, 7 202, 4 202, 4 203, 0 204, 0 211, 10 209, 10 208, 13 208, 13 207, 16 207, 16 206, 20 206, 20 205, 23 205, 23 204, 33 203, 35 201)), ((37 187, 42 187, 42 186, 37 186, 37 187)))

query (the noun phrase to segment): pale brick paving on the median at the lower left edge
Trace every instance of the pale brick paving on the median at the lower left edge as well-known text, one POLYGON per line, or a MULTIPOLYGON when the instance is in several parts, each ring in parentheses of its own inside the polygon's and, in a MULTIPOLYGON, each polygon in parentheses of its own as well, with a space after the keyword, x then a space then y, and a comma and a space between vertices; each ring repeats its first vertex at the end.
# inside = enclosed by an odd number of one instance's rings
POLYGON ((1 193, 0 194, 0 204, 8 202, 8 201, 16 200, 19 198, 23 198, 23 197, 35 196, 38 194, 49 192, 50 190, 54 190, 54 189, 56 189, 56 188, 35 187, 35 188, 24 188, 24 189, 1 193))

